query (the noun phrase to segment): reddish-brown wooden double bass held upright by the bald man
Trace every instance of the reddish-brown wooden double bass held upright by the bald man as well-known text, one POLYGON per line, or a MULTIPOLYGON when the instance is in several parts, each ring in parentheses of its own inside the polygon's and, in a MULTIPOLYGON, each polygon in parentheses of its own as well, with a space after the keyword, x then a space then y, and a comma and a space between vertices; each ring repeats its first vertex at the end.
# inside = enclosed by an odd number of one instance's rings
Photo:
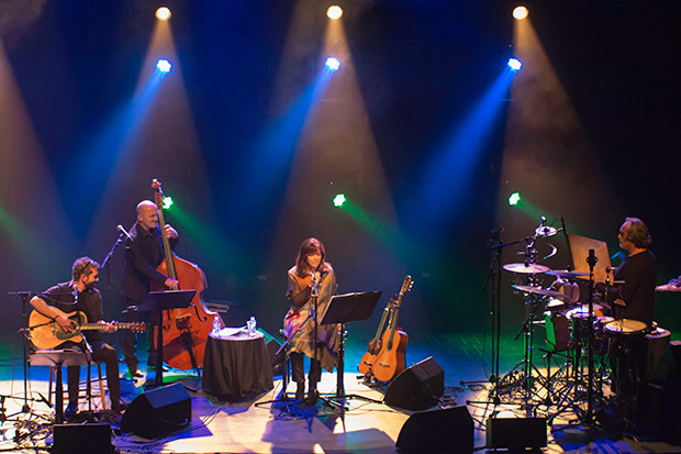
MULTIPOLYGON (((178 257, 170 250, 166 222, 163 211, 163 190, 160 181, 152 182, 154 188, 154 201, 158 207, 158 225, 163 237, 165 258, 156 270, 165 276, 176 279, 182 290, 197 290, 188 308, 169 309, 163 318, 164 324, 164 362, 176 369, 199 369, 203 366, 205 342, 213 330, 215 317, 223 326, 222 319, 213 311, 203 306, 201 292, 205 289, 205 275, 197 265, 178 257)), ((152 283, 150 290, 167 290, 164 286, 152 283)), ((154 336, 156 340, 156 335, 154 336)), ((155 341, 156 342, 156 341, 155 341)))

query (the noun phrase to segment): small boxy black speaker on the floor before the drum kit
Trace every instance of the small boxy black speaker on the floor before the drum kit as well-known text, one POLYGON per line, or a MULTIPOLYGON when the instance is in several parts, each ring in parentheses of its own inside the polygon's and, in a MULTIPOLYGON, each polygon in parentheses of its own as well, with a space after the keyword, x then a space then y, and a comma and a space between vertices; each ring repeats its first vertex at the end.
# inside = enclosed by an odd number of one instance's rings
POLYGON ((488 418, 487 447, 544 447, 546 430, 546 418, 488 418))

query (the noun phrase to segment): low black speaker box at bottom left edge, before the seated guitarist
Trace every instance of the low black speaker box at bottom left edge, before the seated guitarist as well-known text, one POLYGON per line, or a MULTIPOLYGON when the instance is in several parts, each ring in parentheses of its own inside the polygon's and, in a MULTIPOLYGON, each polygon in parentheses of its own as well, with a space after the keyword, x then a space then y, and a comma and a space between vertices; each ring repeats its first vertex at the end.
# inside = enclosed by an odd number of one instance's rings
POLYGON ((113 454, 110 424, 55 424, 52 452, 55 454, 113 454))

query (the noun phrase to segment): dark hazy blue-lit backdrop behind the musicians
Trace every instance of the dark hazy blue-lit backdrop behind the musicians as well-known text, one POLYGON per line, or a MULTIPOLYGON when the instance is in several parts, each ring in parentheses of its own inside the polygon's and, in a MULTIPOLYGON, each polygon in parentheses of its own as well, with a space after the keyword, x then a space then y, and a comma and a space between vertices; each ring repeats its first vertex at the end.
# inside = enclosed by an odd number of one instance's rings
MULTIPOLYGON (((504 239, 511 240, 532 233, 538 223, 504 203, 511 186, 523 187, 523 181, 500 181, 514 120, 509 107, 518 100, 509 95, 503 101, 464 187, 447 192, 447 179, 459 177, 456 166, 450 174, 445 168, 436 181, 428 181, 428 168, 513 55, 514 3, 339 3, 384 187, 361 159, 345 167, 333 159, 305 159, 305 170, 295 174, 303 167, 297 167, 302 159, 299 155, 295 160, 292 150, 279 159, 261 153, 259 144, 281 113, 273 99, 295 98, 317 74, 325 2, 301 2, 310 10, 304 31, 312 51, 299 60, 298 79, 283 95, 277 92, 277 78, 295 2, 169 3, 179 64, 164 84, 172 77, 175 84, 182 80, 196 133, 183 135, 185 130, 175 128, 177 104, 159 91, 146 114, 155 120, 139 122, 144 134, 127 148, 121 143, 131 129, 110 125, 135 91, 157 3, 45 1, 35 2, 33 12, 30 2, 16 4, 7 2, 0 10, 10 68, 3 74, 13 74, 14 96, 25 111, 3 102, 2 135, 13 136, 8 124, 25 118, 27 131, 13 132, 35 142, 24 150, 25 142, 0 139, 0 298, 8 331, 21 323, 21 304, 5 292, 38 291, 67 280, 80 255, 101 262, 118 237, 115 225, 131 226, 135 204, 152 197, 153 178, 194 220, 187 223, 171 210, 166 214, 182 236, 177 253, 208 276, 204 299, 237 304, 228 324, 243 324, 255 314, 265 329, 277 330, 287 310, 286 270, 302 240, 316 236, 326 245, 342 292, 381 290, 382 307, 404 275, 413 275, 414 290, 405 297, 401 318, 410 334, 483 331, 489 325, 482 288, 491 263, 483 251, 490 231, 503 224, 504 239), (29 19, 19 20, 20 13, 29 19), (308 178, 311 189, 291 191, 291 175, 308 178), (334 188, 322 182, 327 177, 335 179, 334 188), (426 210, 433 195, 424 187, 438 184, 437 200, 446 203, 426 210), (367 231, 334 209, 336 188, 389 229, 367 231)), ((535 137, 544 145, 527 162, 523 196, 540 200, 551 219, 566 217, 573 233, 607 241, 611 253, 624 217, 644 219, 660 262, 659 283, 678 276, 679 2, 526 5, 590 148, 587 160, 569 153, 551 155, 557 139, 535 137), (534 165, 546 162, 570 167, 569 184, 534 165)), ((327 115, 315 125, 332 124, 334 117, 327 115)), ((299 148, 316 156, 336 153, 334 159, 342 160, 344 153, 353 153, 342 140, 303 142, 299 148)), ((555 244, 565 246, 560 240, 555 244)), ((516 262, 516 251, 504 253, 504 263, 516 262)), ((119 250, 110 275, 102 274, 101 289, 109 276, 111 281, 108 318, 120 317, 122 255, 119 250)), ((554 258, 547 265, 568 264, 554 258)), ((523 304, 506 290, 504 299, 504 324, 516 326, 523 304)), ((372 320, 357 330, 371 333, 375 326, 372 320)))

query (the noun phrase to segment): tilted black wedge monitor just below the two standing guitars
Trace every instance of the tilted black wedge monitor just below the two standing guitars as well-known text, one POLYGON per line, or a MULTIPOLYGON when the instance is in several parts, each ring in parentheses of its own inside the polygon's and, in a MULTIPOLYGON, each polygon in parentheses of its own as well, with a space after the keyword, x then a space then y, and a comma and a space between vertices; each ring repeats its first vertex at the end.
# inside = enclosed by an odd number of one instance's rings
POLYGON ((388 386, 383 401, 406 410, 426 410, 445 392, 445 372, 433 356, 408 367, 388 386))

